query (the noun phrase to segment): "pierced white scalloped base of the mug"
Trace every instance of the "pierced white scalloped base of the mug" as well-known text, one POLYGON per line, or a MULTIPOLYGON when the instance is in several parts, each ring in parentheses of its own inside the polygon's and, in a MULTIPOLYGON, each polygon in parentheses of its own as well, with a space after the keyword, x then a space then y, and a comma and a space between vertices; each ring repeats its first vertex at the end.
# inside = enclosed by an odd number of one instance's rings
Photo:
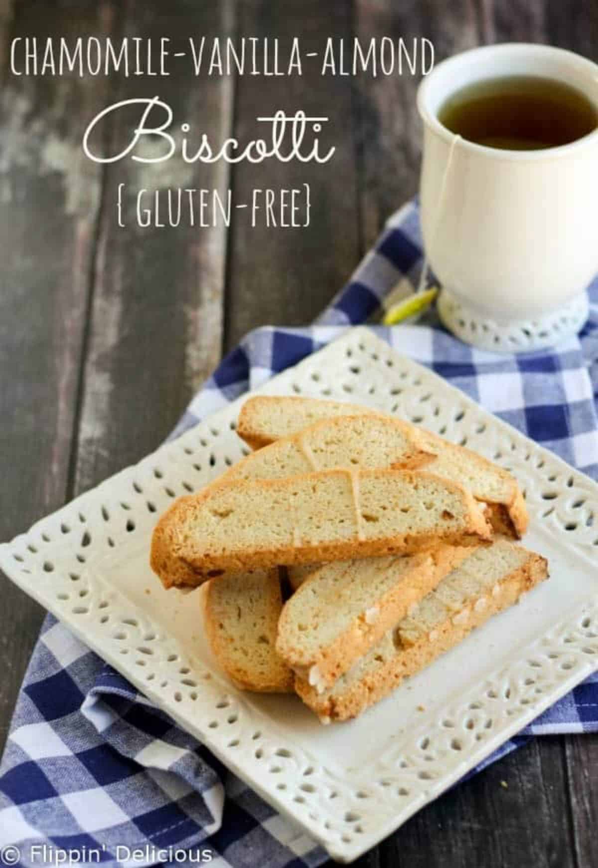
POLYGON ((582 329, 588 319, 588 294, 535 319, 500 323, 443 289, 438 311, 443 325, 465 344, 490 352, 534 352, 556 346, 582 329))

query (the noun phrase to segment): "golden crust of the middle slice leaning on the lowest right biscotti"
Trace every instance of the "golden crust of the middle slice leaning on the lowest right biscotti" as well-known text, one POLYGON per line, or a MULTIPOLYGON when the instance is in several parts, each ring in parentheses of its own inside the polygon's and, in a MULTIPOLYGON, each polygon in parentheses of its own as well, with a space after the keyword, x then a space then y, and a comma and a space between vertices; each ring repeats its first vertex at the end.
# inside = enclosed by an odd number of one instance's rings
MULTIPOLYGON (((278 621, 276 651, 297 674, 306 674, 311 667, 317 667, 320 683, 331 687, 393 624, 404 618, 410 608, 435 589, 445 575, 470 556, 471 550, 468 547, 439 546, 430 552, 413 555, 409 559, 409 572, 400 575, 386 594, 371 601, 375 618, 368 621, 366 613, 361 613, 335 636, 334 641, 315 648, 315 653, 310 654, 300 642, 289 641, 289 635, 295 635, 291 625, 294 619, 301 618, 302 601, 317 592, 319 578, 316 570, 283 606, 278 621)), ((389 569, 392 569, 390 564, 389 569)))

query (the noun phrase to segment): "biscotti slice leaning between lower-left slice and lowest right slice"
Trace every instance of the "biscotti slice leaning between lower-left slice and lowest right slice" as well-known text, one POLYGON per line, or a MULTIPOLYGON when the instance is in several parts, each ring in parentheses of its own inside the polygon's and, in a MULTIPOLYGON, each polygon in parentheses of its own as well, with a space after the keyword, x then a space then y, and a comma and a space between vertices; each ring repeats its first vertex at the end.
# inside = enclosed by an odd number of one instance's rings
POLYGON ((445 545, 323 564, 284 604, 276 651, 316 690, 332 687, 470 552, 445 545))

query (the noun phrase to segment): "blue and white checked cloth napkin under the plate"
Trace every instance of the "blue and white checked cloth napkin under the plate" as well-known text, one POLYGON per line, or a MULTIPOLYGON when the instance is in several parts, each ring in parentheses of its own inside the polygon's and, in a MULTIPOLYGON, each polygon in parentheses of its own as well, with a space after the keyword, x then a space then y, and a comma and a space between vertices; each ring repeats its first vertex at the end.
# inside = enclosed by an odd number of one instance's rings
MULTIPOLYGON (((398 281, 406 291, 419 283, 421 268, 418 209, 410 203, 389 221, 315 325, 251 332, 192 400, 173 436, 348 325, 378 314, 398 281)), ((419 325, 376 331, 598 478, 598 280, 589 293, 588 324, 550 352, 504 356, 472 349, 443 331, 433 311, 419 325)), ((484 765, 530 735, 595 731, 598 677, 576 687, 484 765)), ((106 865, 197 865, 211 858, 218 868, 303 868, 326 860, 308 836, 50 616, 0 767, 0 848, 10 852, 11 845, 20 848, 25 866, 55 861, 52 848, 74 852, 77 861, 87 853, 88 861, 106 865)))

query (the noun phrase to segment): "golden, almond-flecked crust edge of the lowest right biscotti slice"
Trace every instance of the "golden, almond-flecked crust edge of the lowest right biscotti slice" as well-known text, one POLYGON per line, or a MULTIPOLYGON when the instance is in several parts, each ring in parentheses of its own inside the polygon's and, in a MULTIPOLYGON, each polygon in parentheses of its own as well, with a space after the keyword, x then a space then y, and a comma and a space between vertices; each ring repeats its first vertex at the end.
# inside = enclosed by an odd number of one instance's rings
POLYGON ((315 687, 310 687, 307 681, 300 678, 295 679, 296 693, 323 719, 349 720, 356 717, 367 707, 391 693, 401 681, 419 672, 436 660, 440 654, 458 645, 473 628, 480 627, 491 615, 497 615, 498 612, 509 608, 523 593, 538 582, 542 582, 547 576, 546 559, 530 552, 530 559, 522 567, 504 576, 504 579, 497 583, 500 588, 499 593, 484 596, 484 607, 476 610, 475 602, 481 597, 471 600, 469 602, 471 615, 468 619, 459 622, 458 617, 452 614, 444 624, 435 629, 437 635, 434 636, 433 641, 426 636, 410 647, 401 648, 400 653, 394 654, 386 665, 376 667, 343 693, 333 690, 326 694, 318 694, 315 687))

